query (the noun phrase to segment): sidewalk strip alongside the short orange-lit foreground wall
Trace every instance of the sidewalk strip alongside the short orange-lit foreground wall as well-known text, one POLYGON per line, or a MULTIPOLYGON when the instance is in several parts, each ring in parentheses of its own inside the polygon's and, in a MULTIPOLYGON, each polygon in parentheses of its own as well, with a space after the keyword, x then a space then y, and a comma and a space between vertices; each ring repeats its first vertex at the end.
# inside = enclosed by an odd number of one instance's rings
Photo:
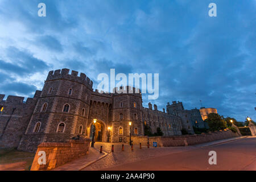
POLYGON ((64 164, 63 166, 52 169, 52 171, 80 171, 81 169, 89 166, 90 164, 104 158, 108 155, 106 152, 96 150, 95 148, 89 147, 89 154, 82 156, 79 159, 72 160, 69 163, 64 164))

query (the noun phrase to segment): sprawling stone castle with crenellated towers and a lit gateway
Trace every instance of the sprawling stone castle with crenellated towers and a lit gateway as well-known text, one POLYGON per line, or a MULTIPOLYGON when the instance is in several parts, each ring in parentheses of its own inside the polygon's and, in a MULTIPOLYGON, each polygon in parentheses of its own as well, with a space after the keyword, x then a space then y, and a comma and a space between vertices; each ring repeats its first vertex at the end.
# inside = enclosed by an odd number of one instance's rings
MULTIPOLYGON (((181 102, 181 109, 174 109, 176 102, 168 104, 166 113, 156 105, 153 110, 150 103, 143 107, 141 90, 131 86, 125 87, 127 93, 99 93, 92 86, 84 73, 58 69, 48 73, 42 91, 36 90, 26 102, 18 96, 3 100, 5 95, 0 94, 0 147, 35 152, 42 142, 65 142, 77 135, 92 138, 93 127, 96 142, 127 143, 130 131, 143 136, 145 125, 152 133, 160 127, 166 136, 181 135, 183 128, 193 134, 193 122, 204 125, 202 119, 188 119, 197 112, 184 110, 181 102)), ((119 89, 123 88, 115 88, 119 89)))

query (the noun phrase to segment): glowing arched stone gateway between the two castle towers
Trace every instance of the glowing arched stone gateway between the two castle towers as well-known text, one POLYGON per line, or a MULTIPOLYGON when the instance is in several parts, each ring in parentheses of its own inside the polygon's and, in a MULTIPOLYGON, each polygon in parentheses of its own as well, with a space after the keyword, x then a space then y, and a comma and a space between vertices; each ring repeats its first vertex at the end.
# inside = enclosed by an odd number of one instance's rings
POLYGON ((90 122, 89 125, 89 138, 92 139, 93 127, 95 126, 94 142, 106 142, 106 124, 105 122, 97 119, 96 123, 90 122))

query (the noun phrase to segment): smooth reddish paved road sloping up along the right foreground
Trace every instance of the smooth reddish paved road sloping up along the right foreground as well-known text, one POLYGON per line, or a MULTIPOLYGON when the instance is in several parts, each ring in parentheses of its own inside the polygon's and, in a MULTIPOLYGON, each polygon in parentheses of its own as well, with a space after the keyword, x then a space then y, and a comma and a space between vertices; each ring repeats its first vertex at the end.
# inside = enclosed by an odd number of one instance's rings
POLYGON ((253 170, 256 171, 256 137, 208 147, 195 147, 174 154, 119 164, 102 170, 253 170), (210 165, 209 151, 216 151, 217 164, 210 165))

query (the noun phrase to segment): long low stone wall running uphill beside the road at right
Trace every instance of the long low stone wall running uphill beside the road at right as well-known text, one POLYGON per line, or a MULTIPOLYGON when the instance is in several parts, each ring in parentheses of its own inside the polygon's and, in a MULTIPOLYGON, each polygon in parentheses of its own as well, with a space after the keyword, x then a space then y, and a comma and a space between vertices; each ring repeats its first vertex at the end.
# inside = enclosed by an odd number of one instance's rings
POLYGON ((174 147, 174 146, 188 146, 193 144, 200 144, 205 142, 212 142, 214 140, 220 140, 225 138, 238 137, 237 133, 233 133, 231 130, 209 132, 207 134, 200 135, 182 135, 173 137, 132 137, 133 144, 141 143, 142 146, 146 146, 147 142, 150 146, 153 142, 158 143, 158 147, 174 147))

